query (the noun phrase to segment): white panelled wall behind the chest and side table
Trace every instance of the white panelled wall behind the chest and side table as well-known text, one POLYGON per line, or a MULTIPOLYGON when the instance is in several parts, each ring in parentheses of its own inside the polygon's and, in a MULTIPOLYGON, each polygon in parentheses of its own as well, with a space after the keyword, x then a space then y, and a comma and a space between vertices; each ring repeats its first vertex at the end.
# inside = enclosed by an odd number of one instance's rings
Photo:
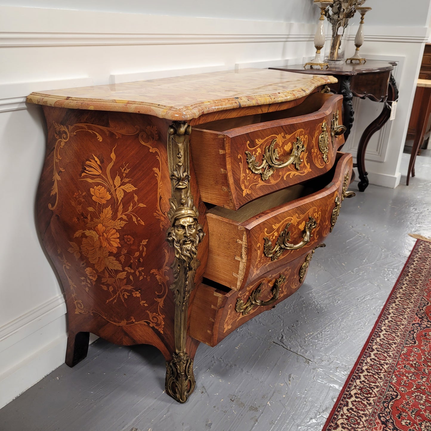
MULTIPOLYGON (((410 17, 393 27, 392 20, 381 18, 387 26, 370 26, 364 45, 364 53, 400 61, 397 126, 386 129, 374 150, 370 146, 379 159, 367 162, 378 184, 394 186, 387 177, 398 175, 427 32, 422 25, 427 2, 416 3, 422 8, 415 9, 418 21, 410 17)), ((25 96, 235 66, 276 66, 286 59, 302 62, 314 53, 316 18, 312 0, 190 1, 181 7, 173 0, 0 0, 0 406, 60 365, 66 346, 62 289, 34 226, 44 125, 40 108, 27 106, 25 96)))

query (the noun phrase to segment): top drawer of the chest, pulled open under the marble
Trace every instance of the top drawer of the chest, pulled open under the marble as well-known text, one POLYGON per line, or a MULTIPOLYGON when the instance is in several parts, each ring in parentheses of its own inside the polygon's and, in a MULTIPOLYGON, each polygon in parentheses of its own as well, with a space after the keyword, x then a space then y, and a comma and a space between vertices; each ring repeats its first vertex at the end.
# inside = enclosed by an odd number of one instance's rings
MULTIPOLYGON (((225 132, 194 130, 192 157, 202 199, 238 209, 331 169, 337 149, 344 143, 342 96, 316 93, 310 97, 321 106, 311 114, 225 132)), ((307 100, 302 105, 306 104, 307 100)), ((272 113, 271 118, 276 116, 272 113)))

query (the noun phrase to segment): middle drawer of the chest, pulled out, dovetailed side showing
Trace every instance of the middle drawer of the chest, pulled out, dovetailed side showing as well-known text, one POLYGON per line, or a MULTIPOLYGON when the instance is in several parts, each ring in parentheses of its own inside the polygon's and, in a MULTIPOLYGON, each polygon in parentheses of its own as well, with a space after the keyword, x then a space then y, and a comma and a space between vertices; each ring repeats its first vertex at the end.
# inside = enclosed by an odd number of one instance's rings
POLYGON ((312 250, 332 231, 342 200, 350 196, 351 172, 352 156, 338 153, 334 173, 314 180, 314 187, 324 187, 315 193, 242 223, 207 213, 209 254, 204 277, 241 290, 262 274, 312 250))

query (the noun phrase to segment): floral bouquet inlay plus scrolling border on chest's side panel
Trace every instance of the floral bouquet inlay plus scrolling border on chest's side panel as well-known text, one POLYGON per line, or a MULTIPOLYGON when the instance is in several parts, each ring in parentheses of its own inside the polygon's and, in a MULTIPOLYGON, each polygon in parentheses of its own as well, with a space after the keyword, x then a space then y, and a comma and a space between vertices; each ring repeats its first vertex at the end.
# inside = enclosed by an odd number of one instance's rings
MULTIPOLYGON (((97 141, 102 141, 103 131, 105 134, 112 133, 117 138, 123 135, 138 135, 138 141, 147 147, 150 153, 156 153, 159 162, 158 167, 153 167, 157 180, 159 198, 157 200, 154 216, 160 220, 160 228, 164 231, 164 225, 169 223, 166 217, 165 202, 161 196, 161 155, 159 150, 153 146, 157 141, 157 130, 148 126, 145 131, 139 128, 134 130, 120 130, 93 124, 77 123, 74 125, 59 125, 54 123, 55 136, 57 138, 54 148, 54 176, 51 196, 56 195, 56 202, 49 208, 56 210, 59 200, 58 181, 61 173, 65 172, 62 167, 61 149, 78 131, 93 134, 97 141), (94 130, 95 129, 95 130, 94 130), (165 211, 165 212, 164 212, 165 211)), ((103 156, 91 154, 82 162, 82 170, 79 180, 84 187, 79 187, 72 196, 70 203, 76 213, 71 222, 76 226, 73 240, 69 241, 68 252, 72 253, 76 260, 80 261, 82 276, 73 278, 69 275, 71 264, 62 256, 59 250, 63 270, 69 281, 72 292, 72 300, 75 304, 76 314, 98 314, 108 322, 117 325, 150 325, 163 332, 164 317, 162 312, 164 300, 168 292, 169 281, 169 250, 163 247, 165 262, 160 269, 146 269, 144 258, 147 253, 148 238, 141 238, 140 229, 126 230, 128 223, 145 225, 143 208, 147 206, 141 202, 139 196, 145 196, 145 192, 134 186, 133 177, 136 172, 131 172, 129 163, 118 161, 115 145, 110 153, 109 163, 103 160, 103 156), (84 185, 86 184, 86 185, 84 185), (150 278, 156 278, 160 285, 160 291, 156 292, 154 300, 157 303, 157 311, 148 308, 147 301, 141 296, 141 289, 150 278), (80 280, 81 287, 77 286, 80 280), (105 292, 106 303, 123 304, 127 309, 128 301, 136 301, 138 306, 145 310, 147 318, 135 319, 130 316, 121 320, 113 319, 105 315, 103 311, 85 306, 82 297, 78 298, 78 290, 87 292, 101 289, 105 292)), ((163 253, 162 251, 162 253, 163 253)))

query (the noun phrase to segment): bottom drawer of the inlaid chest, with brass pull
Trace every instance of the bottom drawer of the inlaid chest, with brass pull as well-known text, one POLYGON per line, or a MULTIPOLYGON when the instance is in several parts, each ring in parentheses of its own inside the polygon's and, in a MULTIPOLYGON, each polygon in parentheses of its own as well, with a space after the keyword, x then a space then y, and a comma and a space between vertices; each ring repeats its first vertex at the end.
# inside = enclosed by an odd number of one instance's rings
MULTIPOLYGON (((321 244, 324 246, 324 244, 321 244)), ((215 346, 234 329, 294 294, 302 285, 317 243, 289 265, 273 270, 241 290, 228 293, 206 284, 196 289, 190 317, 190 335, 215 346)))

